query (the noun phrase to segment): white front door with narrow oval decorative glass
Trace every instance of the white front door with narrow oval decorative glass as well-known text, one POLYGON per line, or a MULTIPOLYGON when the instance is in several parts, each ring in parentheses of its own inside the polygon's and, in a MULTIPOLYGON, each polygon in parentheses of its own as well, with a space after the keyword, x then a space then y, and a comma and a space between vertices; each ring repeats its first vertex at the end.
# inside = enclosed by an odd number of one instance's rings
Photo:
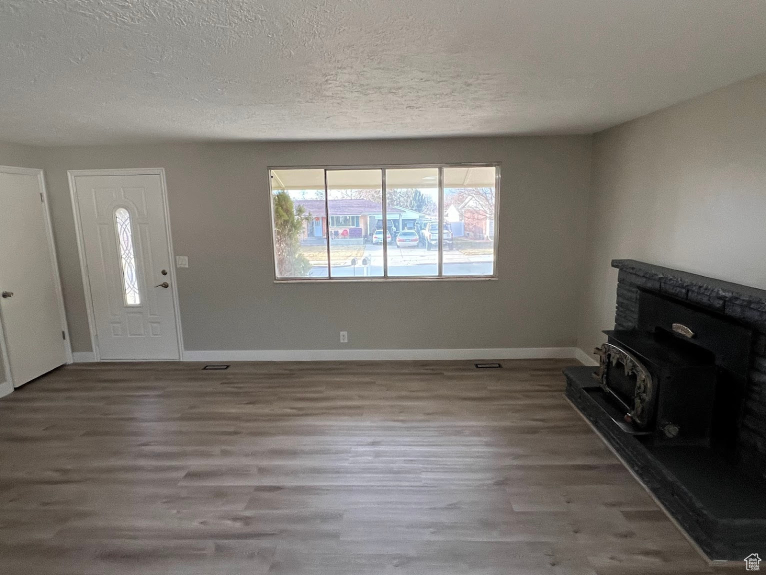
POLYGON ((100 359, 179 359, 159 175, 73 174, 100 359))

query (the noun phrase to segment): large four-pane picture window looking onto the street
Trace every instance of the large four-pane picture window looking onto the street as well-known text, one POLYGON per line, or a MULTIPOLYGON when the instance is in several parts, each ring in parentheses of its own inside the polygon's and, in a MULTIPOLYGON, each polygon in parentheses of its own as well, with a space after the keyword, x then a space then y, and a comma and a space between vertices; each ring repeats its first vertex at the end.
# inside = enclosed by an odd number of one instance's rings
POLYGON ((277 280, 496 276, 499 165, 269 176, 277 280))

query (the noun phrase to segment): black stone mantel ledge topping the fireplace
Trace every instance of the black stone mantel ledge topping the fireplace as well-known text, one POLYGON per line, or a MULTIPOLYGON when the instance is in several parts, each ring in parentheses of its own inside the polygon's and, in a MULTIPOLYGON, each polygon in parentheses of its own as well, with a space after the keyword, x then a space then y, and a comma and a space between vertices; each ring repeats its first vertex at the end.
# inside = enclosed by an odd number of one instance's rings
POLYGON ((612 260, 612 267, 625 273, 632 273, 656 282, 681 289, 692 289, 706 296, 723 299, 736 305, 766 312, 766 290, 737 283, 726 282, 699 276, 696 273, 673 270, 669 267, 655 266, 653 263, 638 260, 612 260))

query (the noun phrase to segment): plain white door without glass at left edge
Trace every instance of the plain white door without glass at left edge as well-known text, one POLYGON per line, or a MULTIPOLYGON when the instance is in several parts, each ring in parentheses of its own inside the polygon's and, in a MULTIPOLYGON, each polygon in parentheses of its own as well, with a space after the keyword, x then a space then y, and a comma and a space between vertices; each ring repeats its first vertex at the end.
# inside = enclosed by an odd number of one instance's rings
POLYGON ((14 387, 70 351, 42 172, 0 167, 0 312, 14 387))

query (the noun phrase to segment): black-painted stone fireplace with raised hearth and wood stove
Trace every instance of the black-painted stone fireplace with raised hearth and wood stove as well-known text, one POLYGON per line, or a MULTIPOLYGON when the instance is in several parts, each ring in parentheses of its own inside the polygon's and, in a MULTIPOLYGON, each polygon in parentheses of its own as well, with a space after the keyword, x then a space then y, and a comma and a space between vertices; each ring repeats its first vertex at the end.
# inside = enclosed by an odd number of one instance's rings
POLYGON ((766 291, 636 260, 612 266, 614 330, 600 368, 565 370, 567 397, 710 559, 764 556, 766 291), (675 402, 666 420, 642 420, 647 397, 660 413, 675 402), (705 409, 712 428, 685 437, 689 411, 705 409))

